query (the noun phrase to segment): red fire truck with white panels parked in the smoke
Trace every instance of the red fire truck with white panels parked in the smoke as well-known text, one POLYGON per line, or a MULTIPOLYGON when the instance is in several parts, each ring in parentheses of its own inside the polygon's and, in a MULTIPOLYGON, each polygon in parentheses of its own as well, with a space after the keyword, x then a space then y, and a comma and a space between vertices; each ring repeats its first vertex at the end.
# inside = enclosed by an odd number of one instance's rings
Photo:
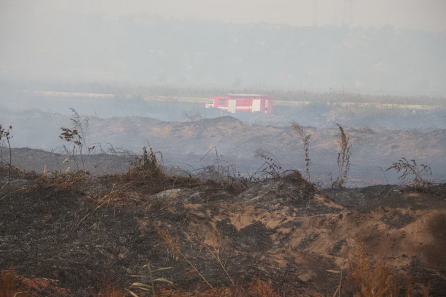
POLYGON ((207 99, 206 108, 219 108, 231 113, 272 113, 273 101, 267 95, 228 94, 225 97, 210 97, 207 99))

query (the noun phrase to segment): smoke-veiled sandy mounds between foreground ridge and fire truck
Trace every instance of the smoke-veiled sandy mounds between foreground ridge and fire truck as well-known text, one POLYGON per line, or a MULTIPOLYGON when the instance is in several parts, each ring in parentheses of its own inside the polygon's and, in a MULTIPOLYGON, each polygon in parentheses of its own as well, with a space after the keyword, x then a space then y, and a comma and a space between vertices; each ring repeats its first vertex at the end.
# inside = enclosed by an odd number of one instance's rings
MULTIPOLYGON (((63 146, 72 151, 72 145, 58 137, 60 127, 71 127, 70 116, 37 110, 10 114, 1 114, 0 111, 0 115, 4 117, 2 121, 13 126, 13 148, 44 148, 47 152, 52 151, 52 155, 67 154, 63 146)), ((297 115, 296 119, 300 117, 297 115)), ((102 154, 104 158, 105 153, 132 157, 140 154, 149 143, 155 150, 162 152, 166 165, 197 170, 216 165, 219 159, 234 164, 236 171, 245 176, 252 174, 261 165, 261 160, 255 157, 255 151, 263 149, 271 152, 283 168, 304 170, 302 140, 293 131, 289 121, 282 125, 276 124, 249 123, 232 116, 174 122, 136 116, 90 118, 86 128, 88 144, 85 147, 95 146, 94 153, 102 154), (209 150, 212 151, 209 153, 209 150)), ((339 129, 335 124, 305 129, 310 135, 313 181, 327 186, 330 184, 330 175, 336 175, 338 171, 336 158, 339 129)), ((349 187, 397 183, 398 175, 395 172, 383 171, 401 157, 431 166, 433 179, 446 180, 446 129, 399 130, 348 126, 344 126, 344 129, 351 144, 349 187)), ((54 160, 51 154, 44 151, 40 154, 25 159, 13 156, 13 164, 38 172, 42 172, 45 165, 51 171, 65 170, 67 166, 76 167, 76 164, 61 164, 65 159, 63 156, 58 156, 58 162, 54 162, 50 161, 54 160)), ((2 155, 5 157, 7 152, 3 150, 2 155)), ((123 172, 127 169, 124 167, 118 170, 107 164, 100 166, 100 157, 95 158, 98 160, 88 168, 92 173, 98 174, 101 170, 106 173, 123 172)))

